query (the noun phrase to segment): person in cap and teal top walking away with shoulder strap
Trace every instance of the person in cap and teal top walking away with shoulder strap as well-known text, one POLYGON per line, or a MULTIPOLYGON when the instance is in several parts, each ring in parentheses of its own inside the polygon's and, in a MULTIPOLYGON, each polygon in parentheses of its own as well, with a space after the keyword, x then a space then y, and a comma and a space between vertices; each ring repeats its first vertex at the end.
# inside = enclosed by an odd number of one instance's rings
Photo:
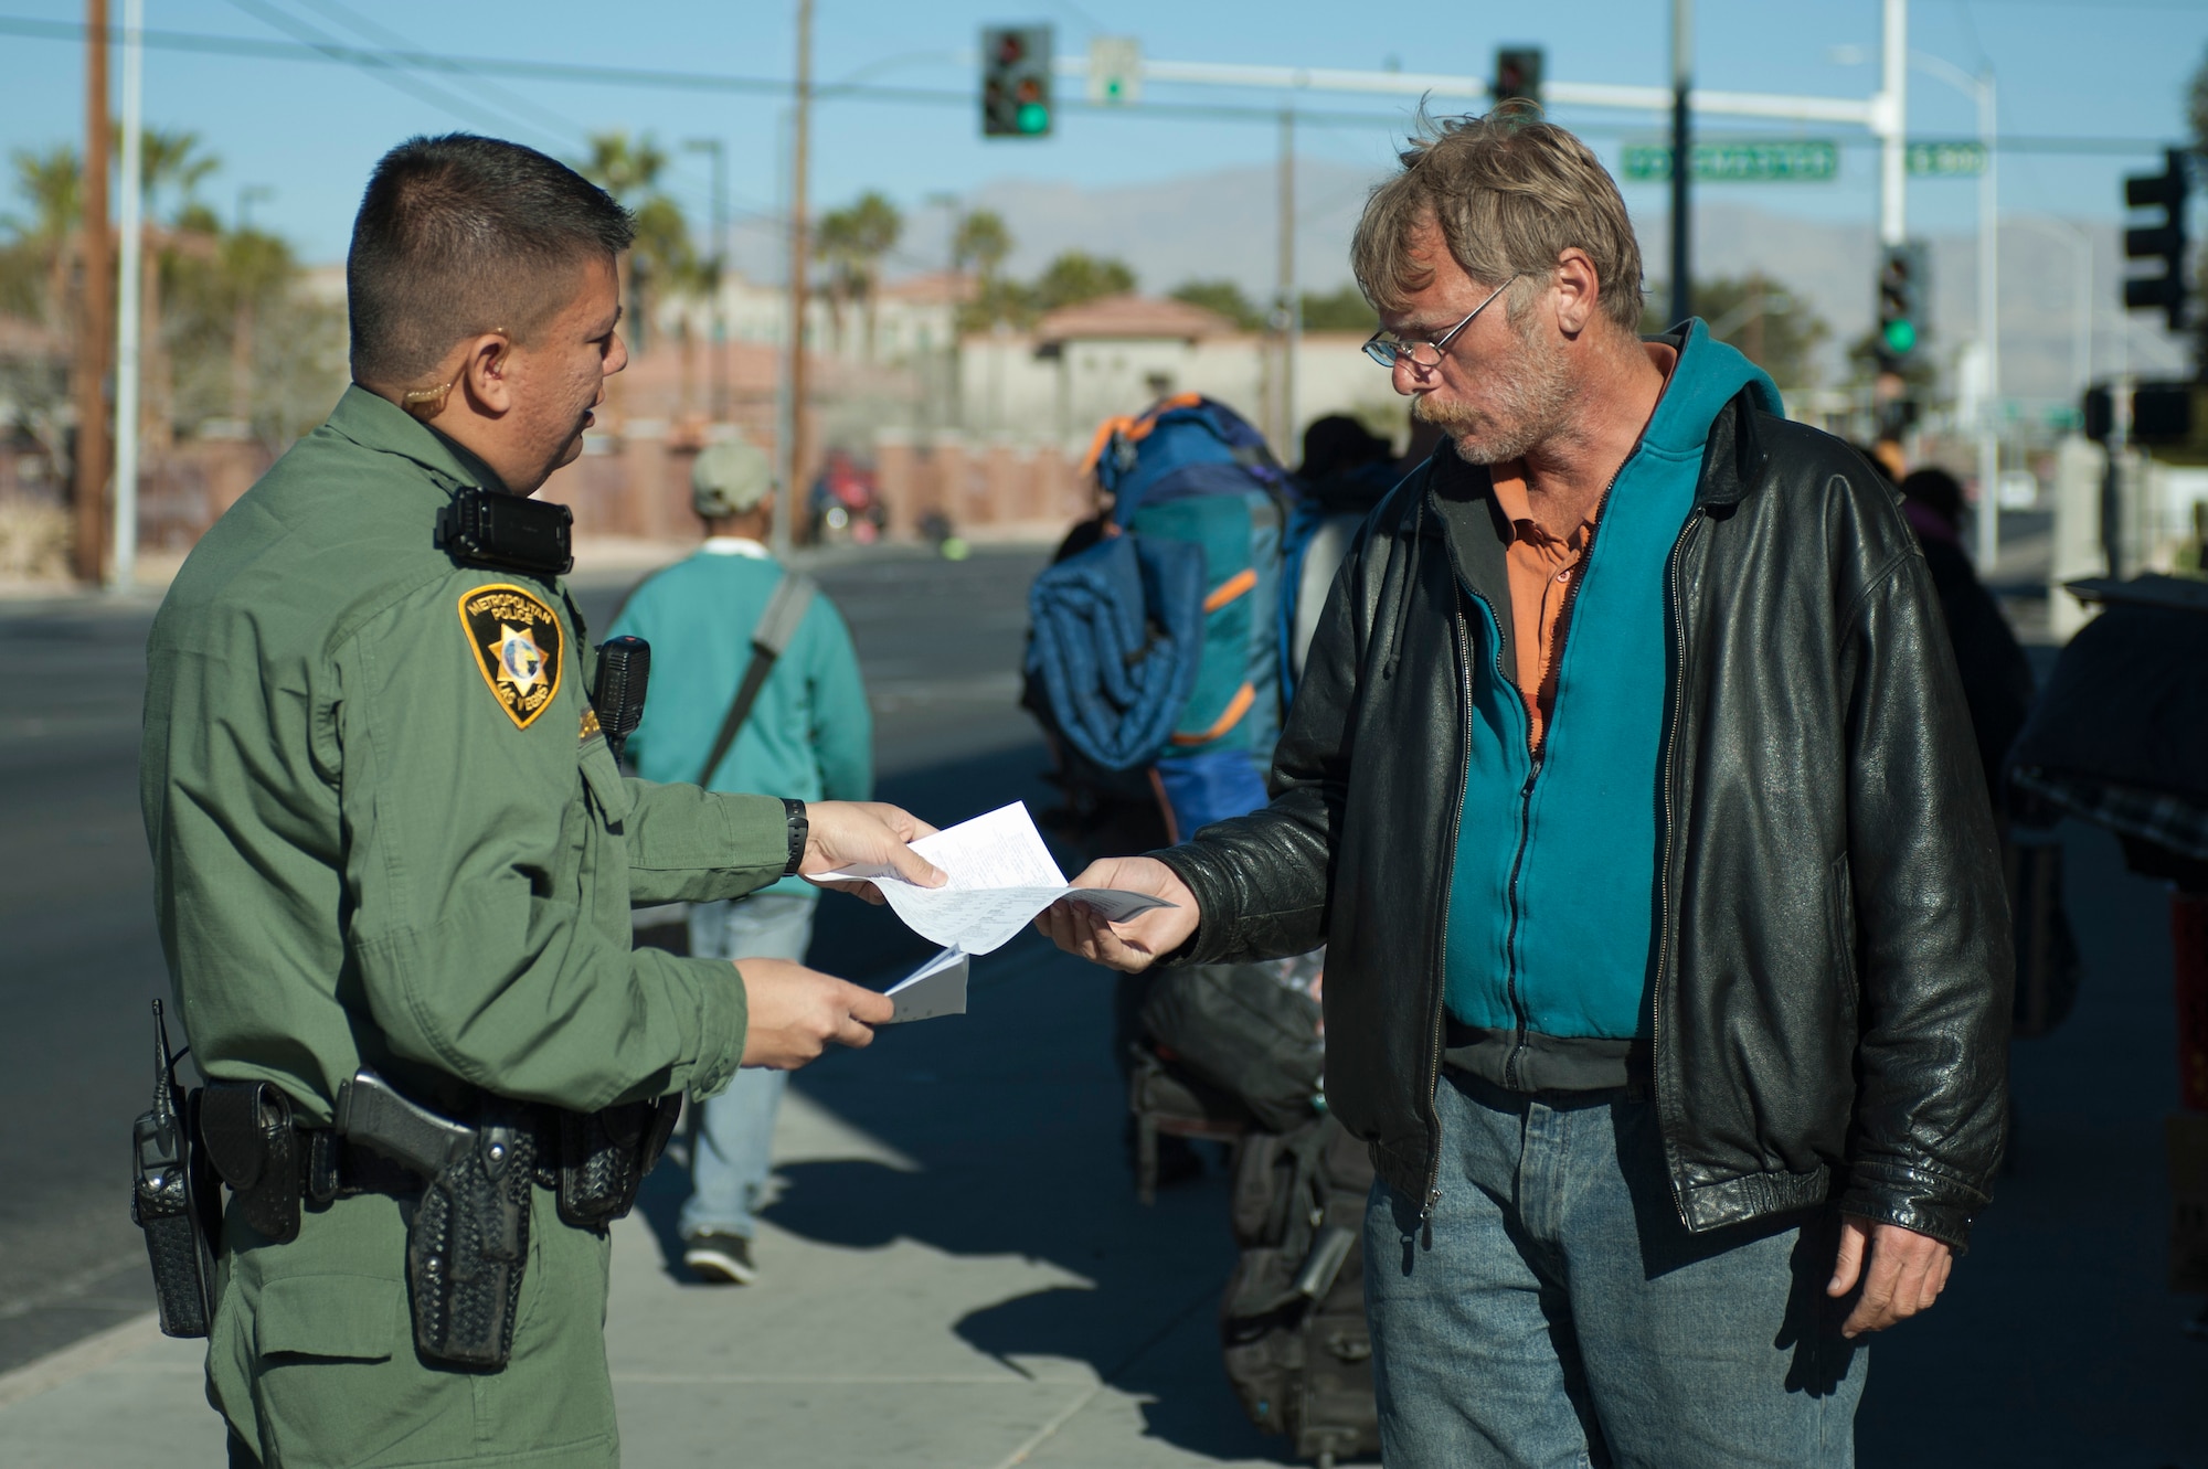
MULTIPOLYGON (((647 781, 804 801, 868 801, 874 721, 859 655, 835 604, 766 549, 773 470, 751 443, 715 443, 691 468, 707 540, 638 587, 614 635, 651 644, 645 719, 627 741, 647 781)), ((819 889, 784 878, 749 898, 696 902, 689 951, 718 959, 804 959, 819 889)), ((788 1072, 740 1070, 702 1103, 682 1204, 682 1264, 751 1284, 753 1218, 766 1189, 788 1072)))

